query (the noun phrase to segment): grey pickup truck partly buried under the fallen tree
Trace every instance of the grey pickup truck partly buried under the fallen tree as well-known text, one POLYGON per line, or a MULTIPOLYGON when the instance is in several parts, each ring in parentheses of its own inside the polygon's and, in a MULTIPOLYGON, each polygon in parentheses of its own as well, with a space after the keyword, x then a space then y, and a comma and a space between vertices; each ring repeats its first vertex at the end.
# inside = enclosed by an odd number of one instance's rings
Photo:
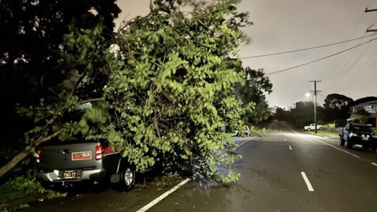
POLYGON ((37 149, 37 179, 44 187, 80 182, 116 183, 129 190, 135 183, 135 169, 113 152, 107 141, 51 141, 37 149))

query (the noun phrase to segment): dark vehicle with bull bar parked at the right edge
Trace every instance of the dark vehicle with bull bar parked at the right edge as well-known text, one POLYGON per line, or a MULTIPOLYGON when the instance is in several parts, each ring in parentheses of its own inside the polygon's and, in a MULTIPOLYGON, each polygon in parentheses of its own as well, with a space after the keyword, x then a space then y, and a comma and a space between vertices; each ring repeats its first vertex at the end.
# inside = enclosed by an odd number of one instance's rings
POLYGON ((377 135, 367 125, 348 123, 343 127, 342 134, 339 135, 341 146, 347 142, 349 149, 353 145, 360 144, 364 149, 377 150, 377 135))

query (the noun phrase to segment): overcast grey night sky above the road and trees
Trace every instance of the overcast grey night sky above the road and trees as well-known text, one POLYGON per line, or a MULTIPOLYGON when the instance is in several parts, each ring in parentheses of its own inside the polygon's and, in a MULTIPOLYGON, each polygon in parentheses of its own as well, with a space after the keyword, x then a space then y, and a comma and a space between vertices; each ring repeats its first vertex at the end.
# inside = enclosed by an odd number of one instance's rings
MULTIPOLYGON (((118 0, 122 13, 117 26, 123 19, 136 15, 147 15, 149 0, 118 0)), ((377 8, 375 0, 243 0, 239 11, 250 12, 253 26, 244 28, 253 43, 240 46, 240 56, 248 57, 312 46, 335 43, 370 35, 366 28, 375 24, 377 12, 365 13, 365 8, 377 8), (370 6, 369 6, 370 5, 370 6), (361 17, 361 19, 360 19, 361 17), (359 21, 360 20, 360 21, 359 21)), ((377 35, 376 35, 377 37, 377 35)), ((361 42, 374 38, 368 37, 361 42)), ((334 54, 352 46, 360 40, 309 51, 284 55, 244 59, 243 65, 265 73, 279 71, 302 63, 334 54)), ((273 92, 267 95, 271 106, 292 106, 314 89, 309 80, 322 80, 317 89, 319 103, 328 94, 339 93, 353 99, 377 95, 377 40, 366 45, 327 58, 316 63, 271 75, 273 92)))

